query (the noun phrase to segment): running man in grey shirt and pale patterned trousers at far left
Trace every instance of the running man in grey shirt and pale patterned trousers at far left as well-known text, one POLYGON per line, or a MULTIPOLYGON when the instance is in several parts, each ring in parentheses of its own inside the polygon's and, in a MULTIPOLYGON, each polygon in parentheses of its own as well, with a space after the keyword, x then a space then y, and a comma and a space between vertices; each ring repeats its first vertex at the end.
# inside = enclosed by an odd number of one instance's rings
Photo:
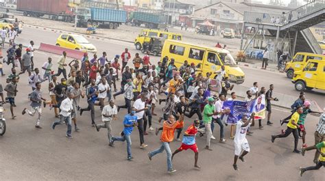
POLYGON ((32 111, 29 111, 28 109, 24 109, 22 114, 24 115, 25 113, 28 113, 28 115, 34 116, 35 113, 38 113, 38 118, 36 120, 36 125, 35 128, 42 128, 40 126, 40 117, 42 115, 42 109, 41 109, 41 105, 42 105, 42 100, 46 101, 45 98, 42 97, 42 92, 40 92, 40 83, 36 83, 36 89, 34 89, 34 91, 30 94, 30 100, 32 101, 32 103, 30 104, 30 106, 32 107, 32 111))

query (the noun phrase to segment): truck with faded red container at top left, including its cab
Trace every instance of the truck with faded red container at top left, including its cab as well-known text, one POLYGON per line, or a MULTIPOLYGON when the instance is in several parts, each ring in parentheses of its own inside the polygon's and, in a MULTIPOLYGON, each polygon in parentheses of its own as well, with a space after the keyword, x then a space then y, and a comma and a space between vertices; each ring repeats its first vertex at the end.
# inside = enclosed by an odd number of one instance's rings
MULTIPOLYGON (((24 16, 43 17, 47 15, 52 20, 61 20, 74 23, 75 7, 71 0, 17 0, 16 10, 23 12, 24 16)), ((80 14, 89 14, 87 8, 80 8, 80 14)))

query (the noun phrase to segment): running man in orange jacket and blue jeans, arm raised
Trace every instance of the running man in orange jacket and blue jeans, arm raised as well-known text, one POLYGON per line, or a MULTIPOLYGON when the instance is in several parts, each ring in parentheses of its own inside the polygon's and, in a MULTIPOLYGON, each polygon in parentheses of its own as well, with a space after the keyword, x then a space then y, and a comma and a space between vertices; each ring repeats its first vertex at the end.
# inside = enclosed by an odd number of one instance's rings
POLYGON ((169 119, 166 120, 163 124, 163 133, 161 133, 160 136, 160 141, 161 141, 160 148, 148 153, 149 160, 152 161, 153 156, 166 150, 168 173, 173 173, 176 171, 176 169, 173 169, 173 165, 171 163, 171 149, 169 148, 169 142, 173 141, 175 129, 183 121, 184 121, 184 116, 181 116, 180 120, 176 122, 175 117, 173 117, 173 115, 169 115, 169 119))

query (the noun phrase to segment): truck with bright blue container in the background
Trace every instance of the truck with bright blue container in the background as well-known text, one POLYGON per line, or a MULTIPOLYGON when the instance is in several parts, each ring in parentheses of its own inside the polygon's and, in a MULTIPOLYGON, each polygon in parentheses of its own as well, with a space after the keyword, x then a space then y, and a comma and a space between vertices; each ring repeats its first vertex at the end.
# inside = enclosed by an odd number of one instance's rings
POLYGON ((85 27, 91 23, 95 27, 108 27, 117 29, 119 25, 126 22, 126 11, 108 8, 91 8, 91 17, 86 18, 78 15, 78 26, 85 27))

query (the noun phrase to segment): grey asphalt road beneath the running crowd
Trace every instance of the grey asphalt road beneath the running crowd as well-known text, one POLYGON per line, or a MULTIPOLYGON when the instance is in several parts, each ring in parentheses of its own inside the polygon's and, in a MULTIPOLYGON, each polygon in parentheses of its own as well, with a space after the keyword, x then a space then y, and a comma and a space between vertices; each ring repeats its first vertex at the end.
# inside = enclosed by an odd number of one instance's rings
MULTIPOLYGON (((58 33, 47 32, 41 29, 24 28, 24 33, 19 36, 17 42, 27 44, 29 40, 34 40, 36 45, 40 42, 54 44, 58 33)), ((136 52, 134 46, 125 42, 100 40, 90 40, 99 53, 108 52, 110 57, 120 54, 123 48, 129 47, 132 55, 136 52)), ((49 54, 36 52, 34 55, 36 67, 40 67, 47 60, 49 54)), ((51 55, 54 62, 57 55, 51 55)), ((154 62, 158 57, 153 58, 154 62)), ((57 66, 55 65, 54 70, 57 66)), ((9 74, 10 68, 5 66, 5 74, 9 74)), ((244 85, 252 85, 256 80, 260 85, 267 86, 269 83, 276 85, 276 92, 294 96, 298 92, 293 91, 293 85, 289 79, 284 78, 284 74, 265 72, 256 69, 243 68, 247 80, 244 85), (256 79, 258 77, 258 79, 256 79)), ((5 85, 5 78, 1 83, 5 85)), ((43 95, 47 94, 47 83, 43 83, 43 95)), ((31 92, 31 87, 27 85, 27 74, 23 74, 19 83, 19 93, 16 97, 17 107, 14 109, 17 115, 15 120, 11 120, 9 106, 4 107, 5 117, 7 117, 8 130, 3 137, 0 137, 0 163, 1 178, 3 180, 322 180, 324 171, 306 172, 302 178, 299 176, 299 167, 313 165, 314 152, 307 152, 306 156, 293 154, 293 136, 285 139, 277 139, 271 143, 272 134, 280 133, 278 120, 289 115, 287 110, 274 108, 272 121, 274 126, 266 126, 264 130, 253 127, 254 135, 248 137, 251 152, 245 157, 246 163, 238 162, 239 171, 232 169, 234 156, 234 145, 230 137, 230 126, 226 127, 226 144, 212 141, 213 151, 204 150, 205 137, 197 137, 197 144, 200 150, 199 165, 202 169, 193 168, 194 154, 191 151, 182 152, 175 156, 173 167, 178 171, 171 175, 167 174, 166 154, 158 154, 150 162, 147 152, 158 148, 159 137, 154 132, 149 132, 145 136, 145 143, 149 146, 145 149, 139 148, 139 132, 135 128, 132 133, 132 156, 133 161, 126 161, 126 143, 115 143, 114 148, 108 146, 106 130, 99 133, 91 127, 90 113, 84 112, 82 117, 78 117, 78 125, 82 130, 79 133, 73 131, 73 139, 67 139, 64 135, 67 127, 57 126, 56 130, 49 127, 55 120, 53 110, 43 109, 41 126, 43 129, 34 128, 35 117, 21 115, 24 107, 29 108, 27 94, 31 92)), ((322 102, 324 95, 307 94, 308 98, 314 98, 322 102), (315 96, 315 97, 314 97, 315 96)), ((117 97, 116 104, 124 103, 123 96, 117 97)), ((324 101, 323 101, 324 103, 324 101)), ((86 101, 81 101, 81 107, 86 107, 86 101)), ((162 115, 157 107, 158 115, 162 115)), ((95 107, 95 121, 100 123, 99 107, 95 107)), ((112 123, 112 135, 118 135, 123 124, 123 115, 126 110, 119 112, 119 119, 112 123)), ((192 117, 195 119, 196 117, 192 117)), ((185 128, 191 124, 193 119, 186 117, 185 128)), ((153 127, 160 127, 158 116, 153 118, 153 127)), ((307 143, 313 144, 313 132, 318 117, 308 115, 306 121, 307 143)), ((263 124, 266 121, 263 120, 263 124)), ((215 128, 215 137, 219 139, 219 127, 215 128)), ((300 139, 299 147, 302 145, 300 139)), ((176 150, 180 142, 173 141, 171 150, 176 150)))

